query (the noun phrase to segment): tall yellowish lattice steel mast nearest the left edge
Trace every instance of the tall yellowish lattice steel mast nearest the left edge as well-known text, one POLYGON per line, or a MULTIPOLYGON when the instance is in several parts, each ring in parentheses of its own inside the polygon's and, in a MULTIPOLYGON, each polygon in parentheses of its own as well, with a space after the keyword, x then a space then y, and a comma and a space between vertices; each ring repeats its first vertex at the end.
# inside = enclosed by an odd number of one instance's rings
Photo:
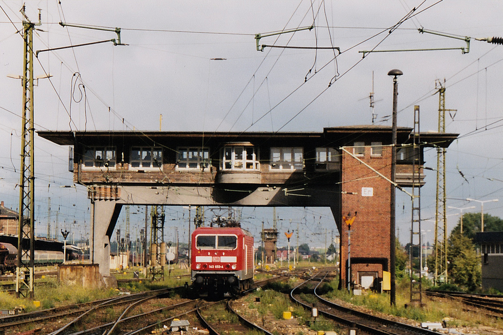
POLYGON ((34 122, 33 122, 33 28, 32 23, 21 9, 23 20, 23 111, 21 135, 21 178, 19 182, 18 220, 18 266, 16 269, 16 296, 33 298, 33 276, 35 270, 35 172, 34 172, 34 122), (25 242, 26 241, 26 242, 25 242))

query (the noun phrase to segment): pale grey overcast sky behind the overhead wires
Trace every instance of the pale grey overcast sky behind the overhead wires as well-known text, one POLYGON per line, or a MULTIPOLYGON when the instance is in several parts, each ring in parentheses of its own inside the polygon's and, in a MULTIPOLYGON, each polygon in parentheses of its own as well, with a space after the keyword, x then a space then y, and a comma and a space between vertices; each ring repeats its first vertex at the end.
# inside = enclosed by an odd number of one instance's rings
MULTIPOLYGON (((23 39, 17 33, 22 30, 22 2, 0 1, 0 6, 0 199, 17 208, 22 86, 8 75, 23 72, 23 39)), ((447 114, 446 131, 461 134, 448 149, 448 205, 480 210, 479 203, 463 199, 499 199, 503 193, 503 45, 475 40, 503 37, 500 1, 28 1, 26 15, 33 22, 38 21, 38 8, 42 25, 34 34, 35 50, 117 38, 113 31, 61 27, 59 22, 120 27, 121 42, 128 45, 108 42, 40 52, 35 76, 52 77, 40 79, 34 89, 36 130, 160 126, 163 131, 322 131, 370 124, 371 91, 376 124, 390 126, 392 79, 387 73, 396 68, 404 73, 398 79, 398 125, 412 126, 413 105, 418 104, 421 131, 438 129, 435 81, 446 79, 446 108, 457 109, 452 118, 447 114), (256 50, 257 33, 313 23, 312 30, 264 37, 260 43, 338 47, 341 54, 327 49, 256 50), (420 34, 421 27, 461 39, 420 34), (472 39, 463 54, 465 36, 472 39), (359 52, 437 48, 457 49, 370 53, 365 58, 359 52)), ((60 228, 76 234, 87 231, 85 188, 61 187, 72 185, 68 148, 37 138, 35 159, 37 233, 47 230, 49 197, 51 221, 59 210, 60 228), (69 224, 74 219, 76 228, 69 224)), ((425 159, 426 166, 436 168, 435 150, 427 151, 425 159)), ((426 171, 426 181, 422 218, 428 219, 435 215, 436 172, 426 171)), ((484 211, 503 216, 503 197, 500 200, 485 203, 484 211)), ((410 200, 399 191, 397 206, 400 241, 406 243, 410 200)), ((169 227, 188 216, 181 207, 168 212, 177 218, 169 227)), ((455 213, 459 211, 449 209, 448 214, 455 213)), ((325 228, 329 234, 336 231, 326 208, 278 208, 278 215, 281 231, 296 229, 299 222, 301 243, 319 240, 322 246, 324 239, 314 234, 324 234, 325 228)), ((132 215, 132 225, 142 225, 137 222, 143 217, 132 215)), ((243 226, 258 238, 262 221, 272 225, 272 208, 243 208, 242 218, 243 226)), ((458 218, 449 216, 449 232, 458 218)), ((120 225, 122 220, 123 215, 120 225)), ((433 222, 424 221, 423 229, 432 241, 433 222)), ((280 237, 280 244, 286 243, 280 237)))

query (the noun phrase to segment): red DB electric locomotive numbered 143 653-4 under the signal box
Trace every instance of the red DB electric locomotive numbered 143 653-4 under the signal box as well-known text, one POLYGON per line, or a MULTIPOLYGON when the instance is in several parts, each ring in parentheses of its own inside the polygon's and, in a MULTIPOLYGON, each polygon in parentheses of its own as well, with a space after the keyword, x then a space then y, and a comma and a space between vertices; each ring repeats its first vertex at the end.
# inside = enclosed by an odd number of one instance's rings
POLYGON ((192 233, 192 288, 199 296, 235 295, 253 283, 254 238, 239 227, 192 233))

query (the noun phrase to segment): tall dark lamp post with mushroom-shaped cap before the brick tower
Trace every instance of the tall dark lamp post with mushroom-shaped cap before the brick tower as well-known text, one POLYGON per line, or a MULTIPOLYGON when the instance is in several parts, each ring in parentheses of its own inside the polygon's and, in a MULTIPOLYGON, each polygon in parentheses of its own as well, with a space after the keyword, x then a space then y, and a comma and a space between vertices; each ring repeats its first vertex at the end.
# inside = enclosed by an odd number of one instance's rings
POLYGON ((396 190, 395 190, 395 175, 396 175, 396 115, 397 115, 397 100, 398 100, 398 83, 396 81, 396 78, 398 76, 401 76, 403 74, 402 71, 394 69, 388 72, 388 76, 393 77, 393 114, 392 114, 392 122, 391 122, 391 142, 393 144, 393 147, 391 148, 391 182, 393 185, 391 185, 390 189, 390 207, 389 207, 389 272, 390 272, 390 294, 389 294, 389 301, 391 305, 396 305, 396 286, 395 286, 395 273, 396 273, 396 268, 395 268, 395 261, 396 261, 396 255, 395 255, 395 195, 396 195, 396 190))

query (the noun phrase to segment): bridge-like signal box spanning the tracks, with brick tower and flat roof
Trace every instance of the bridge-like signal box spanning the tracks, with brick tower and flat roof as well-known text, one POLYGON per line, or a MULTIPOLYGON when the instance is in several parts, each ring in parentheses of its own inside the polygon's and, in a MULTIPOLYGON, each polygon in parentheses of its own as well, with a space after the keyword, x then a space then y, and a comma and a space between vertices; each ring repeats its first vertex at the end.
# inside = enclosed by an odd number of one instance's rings
MULTIPOLYGON (((396 182, 412 183, 412 160, 423 175, 423 148, 448 147, 457 134, 397 129, 396 182), (416 163, 417 164, 417 163, 416 163)), ((351 280, 382 278, 390 264, 391 127, 351 126, 319 132, 39 131, 69 146, 69 170, 92 204, 91 260, 109 274, 110 240, 121 207, 131 205, 330 207, 341 235, 346 281, 347 227, 351 280), (344 223, 344 222, 343 222, 344 223)), ((424 181, 421 179, 421 184, 424 181)))

